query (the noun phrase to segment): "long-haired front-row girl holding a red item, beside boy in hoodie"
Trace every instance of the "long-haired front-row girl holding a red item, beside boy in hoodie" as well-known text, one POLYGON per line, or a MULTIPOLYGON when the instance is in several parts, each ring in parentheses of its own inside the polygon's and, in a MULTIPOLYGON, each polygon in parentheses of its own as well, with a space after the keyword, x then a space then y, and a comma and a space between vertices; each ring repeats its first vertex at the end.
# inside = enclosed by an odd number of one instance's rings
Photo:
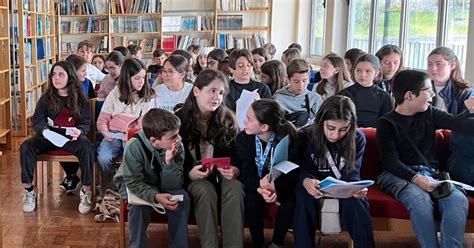
POLYGON ((231 163, 228 168, 203 169, 199 162, 204 157, 234 154, 238 125, 234 113, 223 103, 228 89, 222 72, 206 69, 196 78, 192 93, 176 112, 182 123, 179 132, 186 154, 186 189, 193 199, 201 247, 219 247, 218 206, 223 247, 244 245, 244 187, 237 179, 239 167, 231 163))

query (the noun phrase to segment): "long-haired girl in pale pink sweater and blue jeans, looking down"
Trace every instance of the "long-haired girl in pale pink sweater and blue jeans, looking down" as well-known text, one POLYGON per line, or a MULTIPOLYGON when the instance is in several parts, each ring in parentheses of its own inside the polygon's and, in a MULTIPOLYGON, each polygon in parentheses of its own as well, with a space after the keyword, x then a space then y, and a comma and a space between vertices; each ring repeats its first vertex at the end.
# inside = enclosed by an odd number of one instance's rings
POLYGON ((97 119, 97 130, 104 136, 97 150, 102 193, 113 188, 113 158, 123 152, 125 132, 128 128, 140 128, 143 115, 153 107, 155 93, 146 83, 145 75, 145 66, 141 61, 126 59, 120 71, 118 86, 105 99, 97 119))

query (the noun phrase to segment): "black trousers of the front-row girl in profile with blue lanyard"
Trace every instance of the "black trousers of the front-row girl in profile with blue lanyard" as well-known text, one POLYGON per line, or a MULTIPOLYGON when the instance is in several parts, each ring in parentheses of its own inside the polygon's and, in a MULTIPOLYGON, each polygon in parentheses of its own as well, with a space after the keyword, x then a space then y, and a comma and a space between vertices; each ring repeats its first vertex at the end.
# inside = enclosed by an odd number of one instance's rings
MULTIPOLYGON (((291 198, 293 199, 293 198, 291 198)), ((245 218, 250 229, 254 247, 263 247, 264 238, 264 217, 265 202, 262 195, 256 190, 247 190, 245 192, 245 218)), ((285 241, 286 233, 291 228, 294 213, 294 201, 282 202, 278 207, 278 212, 274 220, 272 242, 276 245, 282 245, 285 241)))

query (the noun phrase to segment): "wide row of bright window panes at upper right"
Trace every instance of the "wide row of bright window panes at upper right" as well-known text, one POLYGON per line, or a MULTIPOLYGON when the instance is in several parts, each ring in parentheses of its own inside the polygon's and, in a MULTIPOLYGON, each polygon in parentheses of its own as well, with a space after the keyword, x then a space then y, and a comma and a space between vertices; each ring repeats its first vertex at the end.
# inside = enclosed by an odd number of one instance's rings
POLYGON ((469 8, 469 0, 352 0, 347 48, 375 53, 395 44, 404 51, 407 68, 426 70, 431 50, 448 46, 465 68, 469 8), (439 18, 446 24, 439 26, 439 18))

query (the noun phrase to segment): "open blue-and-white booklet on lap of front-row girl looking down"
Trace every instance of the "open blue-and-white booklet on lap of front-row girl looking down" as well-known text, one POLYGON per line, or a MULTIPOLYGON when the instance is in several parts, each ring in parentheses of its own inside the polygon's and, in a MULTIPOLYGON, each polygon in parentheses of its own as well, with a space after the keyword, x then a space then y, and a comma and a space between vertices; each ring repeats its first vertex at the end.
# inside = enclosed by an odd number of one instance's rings
POLYGON ((319 190, 324 193, 324 196, 334 198, 350 198, 352 197, 352 192, 367 188, 372 184, 374 184, 373 180, 345 182, 333 177, 326 177, 326 179, 319 183, 319 190))

